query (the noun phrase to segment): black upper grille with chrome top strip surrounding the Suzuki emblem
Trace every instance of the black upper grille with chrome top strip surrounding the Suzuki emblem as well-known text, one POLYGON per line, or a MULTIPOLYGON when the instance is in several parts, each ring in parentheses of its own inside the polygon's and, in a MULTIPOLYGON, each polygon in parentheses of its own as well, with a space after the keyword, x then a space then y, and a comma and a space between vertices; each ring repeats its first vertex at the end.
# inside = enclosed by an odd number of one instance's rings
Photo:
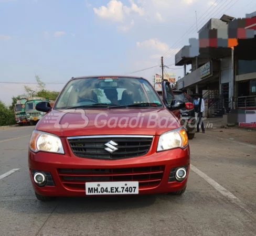
POLYGON ((74 155, 93 159, 125 159, 143 156, 150 151, 153 137, 90 137, 90 138, 68 138, 70 148, 74 155), (105 150, 106 143, 110 141, 118 144, 114 153, 105 150))

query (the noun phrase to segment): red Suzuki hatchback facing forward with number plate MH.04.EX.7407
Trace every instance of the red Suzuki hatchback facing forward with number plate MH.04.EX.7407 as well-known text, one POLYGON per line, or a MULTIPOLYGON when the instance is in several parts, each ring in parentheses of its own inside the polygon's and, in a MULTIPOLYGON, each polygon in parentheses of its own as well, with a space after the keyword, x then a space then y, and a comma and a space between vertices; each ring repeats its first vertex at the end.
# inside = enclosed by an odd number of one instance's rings
POLYGON ((29 142, 28 166, 38 200, 58 196, 182 195, 189 173, 186 131, 173 111, 169 83, 163 101, 143 78, 72 78, 29 142))

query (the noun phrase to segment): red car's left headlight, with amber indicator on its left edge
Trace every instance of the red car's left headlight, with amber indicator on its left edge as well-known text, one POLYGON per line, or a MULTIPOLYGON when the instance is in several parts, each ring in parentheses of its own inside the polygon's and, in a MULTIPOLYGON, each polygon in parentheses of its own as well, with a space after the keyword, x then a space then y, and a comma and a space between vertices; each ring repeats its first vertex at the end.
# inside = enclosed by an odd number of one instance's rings
POLYGON ((63 146, 58 136, 37 130, 34 130, 31 135, 29 147, 35 153, 42 151, 64 154, 63 146))

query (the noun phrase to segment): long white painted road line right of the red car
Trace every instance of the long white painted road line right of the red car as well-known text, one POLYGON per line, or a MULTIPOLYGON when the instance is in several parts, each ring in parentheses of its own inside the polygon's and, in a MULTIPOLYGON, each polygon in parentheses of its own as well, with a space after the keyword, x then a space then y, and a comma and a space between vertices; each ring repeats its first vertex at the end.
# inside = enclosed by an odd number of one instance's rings
POLYGON ((244 204, 239 198, 234 196, 230 191, 228 191, 226 188, 222 187, 220 184, 218 184, 215 180, 211 179, 208 175, 203 173, 201 170, 197 169, 195 166, 190 164, 190 169, 193 170, 197 175, 199 175, 201 178, 203 178, 209 185, 214 187, 220 194, 222 194, 224 197, 227 197, 231 200, 232 203, 235 205, 241 207, 243 210, 245 210, 247 213, 251 216, 254 216, 254 213, 248 209, 247 205, 244 204))

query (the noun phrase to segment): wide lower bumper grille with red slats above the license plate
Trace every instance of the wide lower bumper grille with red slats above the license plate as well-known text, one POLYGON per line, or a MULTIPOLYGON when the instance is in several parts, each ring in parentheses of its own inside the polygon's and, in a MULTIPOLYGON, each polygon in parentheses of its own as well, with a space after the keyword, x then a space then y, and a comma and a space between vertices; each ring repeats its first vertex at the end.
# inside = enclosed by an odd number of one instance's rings
POLYGON ((87 182, 138 181, 140 189, 157 187, 165 166, 116 169, 58 169, 63 186, 85 191, 87 182))

